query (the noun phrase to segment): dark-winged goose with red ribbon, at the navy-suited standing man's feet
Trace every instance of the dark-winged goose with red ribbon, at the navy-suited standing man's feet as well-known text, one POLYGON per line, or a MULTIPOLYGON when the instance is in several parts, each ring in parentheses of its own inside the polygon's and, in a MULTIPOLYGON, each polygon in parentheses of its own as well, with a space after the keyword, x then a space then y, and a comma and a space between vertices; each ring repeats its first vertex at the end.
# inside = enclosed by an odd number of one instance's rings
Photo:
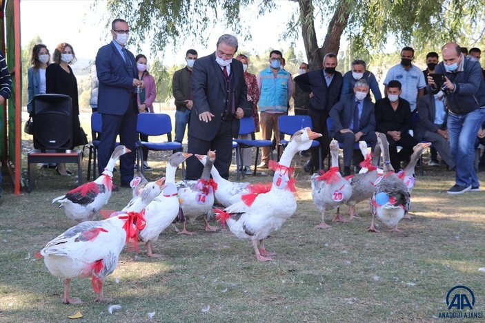
POLYGON ((123 145, 116 147, 108 165, 96 180, 72 189, 63 196, 58 196, 52 200, 52 204, 58 202, 59 207, 64 207, 66 216, 71 220, 77 222, 93 220, 99 209, 106 205, 111 197, 113 168, 116 161, 128 152, 130 149, 123 145))

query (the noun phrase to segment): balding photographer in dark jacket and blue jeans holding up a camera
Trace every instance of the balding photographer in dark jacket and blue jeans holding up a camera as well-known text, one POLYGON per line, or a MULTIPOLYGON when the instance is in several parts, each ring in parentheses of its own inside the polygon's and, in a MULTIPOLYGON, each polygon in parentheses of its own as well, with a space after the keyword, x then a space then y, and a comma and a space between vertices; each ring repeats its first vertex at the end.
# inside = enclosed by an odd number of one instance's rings
POLYGON ((433 94, 442 90, 448 107, 448 136, 456 164, 455 185, 448 189, 448 194, 479 191, 473 167, 473 145, 485 117, 482 67, 476 59, 464 56, 457 43, 444 45, 442 56, 443 61, 436 66, 435 75, 428 75, 428 90, 433 94))

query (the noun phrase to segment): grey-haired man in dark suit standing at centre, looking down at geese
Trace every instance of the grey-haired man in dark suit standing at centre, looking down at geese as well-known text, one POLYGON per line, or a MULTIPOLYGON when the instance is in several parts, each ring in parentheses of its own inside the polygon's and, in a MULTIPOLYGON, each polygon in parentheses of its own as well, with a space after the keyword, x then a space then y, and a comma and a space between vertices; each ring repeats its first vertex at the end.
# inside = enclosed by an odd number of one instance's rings
MULTIPOLYGON (((237 39, 224 34, 217 50, 194 63, 190 90, 193 106, 188 124, 188 149, 192 154, 215 150, 215 167, 223 178, 229 177, 232 137, 239 134, 239 119, 248 105, 247 87, 240 61, 232 59, 237 39)), ((196 158, 187 160, 186 178, 200 178, 202 165, 196 158)))

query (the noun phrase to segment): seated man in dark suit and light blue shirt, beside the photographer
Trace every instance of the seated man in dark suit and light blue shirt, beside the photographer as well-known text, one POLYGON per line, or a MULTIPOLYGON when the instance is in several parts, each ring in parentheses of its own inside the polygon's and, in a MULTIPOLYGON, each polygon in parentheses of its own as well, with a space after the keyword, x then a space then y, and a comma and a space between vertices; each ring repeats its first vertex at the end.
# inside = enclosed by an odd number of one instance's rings
POLYGON ((429 93, 417 101, 417 123, 414 127, 416 140, 426 140, 433 143, 439 156, 448 165, 455 168, 455 161, 451 156, 450 143, 448 143, 448 130, 446 129, 447 113, 444 106, 443 91, 437 94, 429 93))

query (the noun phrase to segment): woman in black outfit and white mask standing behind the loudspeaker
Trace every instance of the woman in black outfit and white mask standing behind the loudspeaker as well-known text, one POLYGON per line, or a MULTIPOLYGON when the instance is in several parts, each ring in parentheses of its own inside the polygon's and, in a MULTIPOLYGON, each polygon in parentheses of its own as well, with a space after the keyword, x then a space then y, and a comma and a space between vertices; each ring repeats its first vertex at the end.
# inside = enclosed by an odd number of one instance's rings
MULTIPOLYGON (((86 145, 88 140, 79 123, 77 80, 69 66, 76 61, 72 46, 68 43, 57 45, 52 61, 46 69, 46 93, 66 94, 72 98, 72 148, 86 145)), ((72 174, 66 164, 58 164, 56 170, 59 175, 72 174)))

